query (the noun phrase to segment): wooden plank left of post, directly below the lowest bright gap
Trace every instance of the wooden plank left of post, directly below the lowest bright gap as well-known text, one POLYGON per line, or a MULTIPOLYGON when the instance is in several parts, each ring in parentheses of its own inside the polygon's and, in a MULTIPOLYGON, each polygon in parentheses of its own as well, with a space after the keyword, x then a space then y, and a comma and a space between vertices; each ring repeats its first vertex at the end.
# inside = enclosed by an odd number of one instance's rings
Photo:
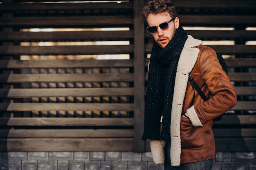
POLYGON ((0 68, 130 68, 133 60, 1 60, 0 68))

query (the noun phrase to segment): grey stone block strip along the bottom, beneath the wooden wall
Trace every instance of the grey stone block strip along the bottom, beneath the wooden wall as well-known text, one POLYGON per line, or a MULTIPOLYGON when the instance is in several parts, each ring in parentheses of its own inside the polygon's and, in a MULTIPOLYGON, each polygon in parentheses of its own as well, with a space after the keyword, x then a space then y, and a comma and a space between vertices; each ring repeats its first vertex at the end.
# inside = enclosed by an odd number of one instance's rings
MULTIPOLYGON (((0 152, 0 170, 164 170, 151 152, 0 152)), ((256 152, 217 152, 212 170, 256 170, 256 152)))

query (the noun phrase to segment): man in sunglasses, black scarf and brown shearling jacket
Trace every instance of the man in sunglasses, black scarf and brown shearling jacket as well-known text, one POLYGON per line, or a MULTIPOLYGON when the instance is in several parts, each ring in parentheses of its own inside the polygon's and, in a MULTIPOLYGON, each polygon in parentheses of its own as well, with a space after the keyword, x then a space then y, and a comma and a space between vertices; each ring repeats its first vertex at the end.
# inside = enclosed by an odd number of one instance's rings
POLYGON ((150 140, 153 160, 165 170, 211 170, 213 119, 236 105, 234 87, 216 52, 183 30, 171 0, 147 1, 142 13, 155 40, 142 140, 150 140), (189 73, 206 102, 188 82, 189 73))

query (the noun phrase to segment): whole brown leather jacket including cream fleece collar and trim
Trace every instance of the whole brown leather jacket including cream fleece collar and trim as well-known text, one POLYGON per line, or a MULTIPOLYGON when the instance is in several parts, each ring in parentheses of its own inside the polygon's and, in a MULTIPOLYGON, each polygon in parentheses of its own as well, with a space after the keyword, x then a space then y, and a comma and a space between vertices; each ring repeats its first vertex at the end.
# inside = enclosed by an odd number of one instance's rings
MULTIPOLYGON (((175 77, 171 112, 171 164, 202 161, 215 157, 213 119, 236 105, 233 85, 222 70, 216 52, 188 35, 175 77), (189 73, 209 100, 204 100, 188 82, 189 73), (181 117, 186 112, 189 118, 181 117)), ((164 141, 150 140, 155 163, 164 162, 164 141)))

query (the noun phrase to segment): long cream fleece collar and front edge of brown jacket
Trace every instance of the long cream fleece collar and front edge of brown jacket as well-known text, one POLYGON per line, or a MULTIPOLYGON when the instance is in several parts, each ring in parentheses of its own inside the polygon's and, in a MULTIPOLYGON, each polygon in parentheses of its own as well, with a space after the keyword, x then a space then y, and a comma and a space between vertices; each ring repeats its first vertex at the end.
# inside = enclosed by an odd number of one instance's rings
POLYGON ((202 44, 201 40, 194 39, 188 35, 184 48, 180 54, 175 77, 175 86, 173 93, 173 105, 171 111, 171 165, 180 165, 181 139, 180 139, 180 119, 186 86, 189 79, 189 73, 192 71, 198 58, 200 50, 193 48, 202 44))

